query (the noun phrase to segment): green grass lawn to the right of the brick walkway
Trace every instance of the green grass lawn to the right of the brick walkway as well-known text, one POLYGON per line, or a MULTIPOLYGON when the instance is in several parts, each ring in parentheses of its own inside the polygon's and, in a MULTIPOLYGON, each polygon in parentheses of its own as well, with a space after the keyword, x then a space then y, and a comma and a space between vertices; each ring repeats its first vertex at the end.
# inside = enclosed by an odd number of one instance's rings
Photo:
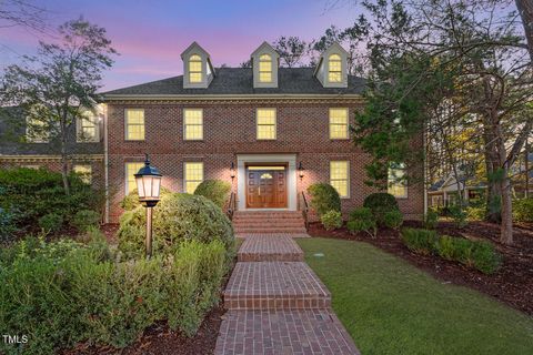
POLYGON ((533 354, 533 317, 366 243, 296 241, 364 355, 533 354))

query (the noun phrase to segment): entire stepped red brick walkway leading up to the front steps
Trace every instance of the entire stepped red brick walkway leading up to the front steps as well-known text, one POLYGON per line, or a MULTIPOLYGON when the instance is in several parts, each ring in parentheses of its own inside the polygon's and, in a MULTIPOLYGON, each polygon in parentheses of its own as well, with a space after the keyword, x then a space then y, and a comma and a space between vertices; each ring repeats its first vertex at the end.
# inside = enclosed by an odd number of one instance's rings
MULTIPOLYGON (((359 354, 293 234, 248 234, 224 291, 217 355, 359 354)), ((308 236, 308 235, 305 235, 308 236)))

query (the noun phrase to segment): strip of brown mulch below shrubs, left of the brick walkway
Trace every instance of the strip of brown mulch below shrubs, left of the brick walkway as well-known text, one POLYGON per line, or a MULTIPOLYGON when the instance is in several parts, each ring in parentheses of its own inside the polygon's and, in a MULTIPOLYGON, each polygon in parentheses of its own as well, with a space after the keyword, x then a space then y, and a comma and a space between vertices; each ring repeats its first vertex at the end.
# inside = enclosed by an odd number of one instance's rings
POLYGON ((117 349, 111 346, 95 347, 81 344, 63 355, 103 355, 103 354, 121 354, 121 355, 140 355, 140 354, 157 354, 157 355, 198 355, 212 354, 217 337, 219 335, 220 324, 222 323, 222 315, 225 310, 222 304, 211 310, 211 312, 203 320, 203 323, 193 337, 173 332, 169 328, 165 322, 158 323, 149 327, 144 334, 133 344, 123 348, 117 349))

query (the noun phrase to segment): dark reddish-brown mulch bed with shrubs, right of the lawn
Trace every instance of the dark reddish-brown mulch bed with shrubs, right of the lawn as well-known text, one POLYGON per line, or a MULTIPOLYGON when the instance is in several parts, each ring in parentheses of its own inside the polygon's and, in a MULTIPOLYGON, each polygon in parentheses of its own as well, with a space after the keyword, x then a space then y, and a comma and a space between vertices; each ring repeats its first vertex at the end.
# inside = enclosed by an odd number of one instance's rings
MULTIPOLYGON (((404 226, 421 227, 420 222, 406 221, 404 226)), ((475 222, 464 229, 452 223, 440 222, 439 234, 485 239, 494 243, 503 255, 501 268, 493 275, 484 275, 456 262, 443 260, 436 255, 420 255, 411 252, 393 230, 380 230, 376 239, 368 234, 352 235, 345 227, 325 231, 320 223, 311 223, 311 236, 355 240, 370 243, 385 252, 400 256, 416 267, 426 271, 444 283, 467 286, 487 294, 529 315, 533 315, 533 226, 520 225, 514 230, 514 244, 503 245, 497 240, 500 226, 493 223, 475 222)))

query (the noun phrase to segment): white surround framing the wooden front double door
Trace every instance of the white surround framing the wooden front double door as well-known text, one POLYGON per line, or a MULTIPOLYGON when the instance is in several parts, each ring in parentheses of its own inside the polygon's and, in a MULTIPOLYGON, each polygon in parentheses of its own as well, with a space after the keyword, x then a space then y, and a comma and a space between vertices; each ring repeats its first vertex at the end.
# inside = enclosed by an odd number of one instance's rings
MULTIPOLYGON (((286 209, 296 211, 296 154, 238 154, 237 155, 237 201, 238 210, 247 209, 247 164, 286 164, 286 209)), ((264 209, 262 209, 264 210, 264 209)))

